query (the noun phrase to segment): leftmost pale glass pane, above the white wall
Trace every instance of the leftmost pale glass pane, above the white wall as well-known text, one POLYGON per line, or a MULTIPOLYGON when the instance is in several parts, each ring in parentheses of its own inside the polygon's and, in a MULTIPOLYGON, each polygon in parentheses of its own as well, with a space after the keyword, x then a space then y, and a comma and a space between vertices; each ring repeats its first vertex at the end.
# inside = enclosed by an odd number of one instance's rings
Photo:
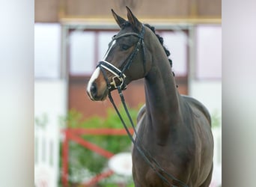
POLYGON ((34 24, 34 77, 60 76, 61 25, 34 24))

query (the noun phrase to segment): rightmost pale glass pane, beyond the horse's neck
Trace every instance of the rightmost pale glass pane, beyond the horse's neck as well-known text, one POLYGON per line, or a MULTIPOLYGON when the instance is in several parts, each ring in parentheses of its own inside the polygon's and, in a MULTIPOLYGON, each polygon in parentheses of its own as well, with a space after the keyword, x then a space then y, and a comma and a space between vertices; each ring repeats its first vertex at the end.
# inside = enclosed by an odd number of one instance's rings
POLYGON ((196 28, 198 79, 222 77, 222 27, 199 25, 196 28))

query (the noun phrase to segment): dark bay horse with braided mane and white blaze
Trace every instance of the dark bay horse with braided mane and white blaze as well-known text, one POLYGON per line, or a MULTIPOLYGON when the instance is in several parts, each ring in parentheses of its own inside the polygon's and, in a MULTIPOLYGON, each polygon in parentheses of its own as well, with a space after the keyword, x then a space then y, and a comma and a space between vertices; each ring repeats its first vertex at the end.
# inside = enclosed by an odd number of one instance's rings
POLYGON ((94 101, 104 100, 112 90, 144 78, 146 103, 138 114, 132 150, 135 186, 209 186, 213 135, 207 108, 178 93, 165 48, 150 27, 128 7, 128 21, 112 13, 121 31, 109 43, 87 93, 94 101))

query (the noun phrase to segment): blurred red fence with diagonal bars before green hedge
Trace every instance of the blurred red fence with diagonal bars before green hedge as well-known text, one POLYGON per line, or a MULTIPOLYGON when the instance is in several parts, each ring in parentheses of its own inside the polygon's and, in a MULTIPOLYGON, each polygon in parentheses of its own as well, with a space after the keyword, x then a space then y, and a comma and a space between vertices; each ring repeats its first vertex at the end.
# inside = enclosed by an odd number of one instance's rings
MULTIPOLYGON (((129 129, 129 132, 133 133, 133 130, 129 129)), ((93 144, 90 141, 86 141, 85 139, 81 138, 81 135, 127 135, 125 129, 64 129, 63 133, 64 142, 62 144, 62 184, 65 187, 68 186, 69 141, 75 141, 82 147, 85 147, 109 159, 110 157, 114 156, 113 153, 103 149, 102 147, 97 146, 96 144, 93 144)), ((92 178, 90 181, 88 181, 88 183, 85 183, 84 186, 92 186, 98 183, 100 180, 103 180, 104 178, 111 176, 112 174, 114 174, 114 172, 111 170, 105 171, 92 178)))

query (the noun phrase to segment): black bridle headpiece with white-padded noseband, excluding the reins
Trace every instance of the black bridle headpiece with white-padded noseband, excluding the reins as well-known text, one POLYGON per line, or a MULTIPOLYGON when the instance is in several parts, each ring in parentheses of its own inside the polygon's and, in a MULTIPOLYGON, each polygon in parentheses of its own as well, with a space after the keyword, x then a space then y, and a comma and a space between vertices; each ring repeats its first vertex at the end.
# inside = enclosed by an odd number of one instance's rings
POLYGON ((114 40, 118 40, 121 37, 135 36, 135 37, 138 37, 138 42, 135 45, 135 48, 133 49, 132 53, 124 61, 124 67, 121 70, 118 69, 118 67, 115 67, 113 64, 110 64, 106 60, 102 60, 99 62, 99 64, 97 64, 97 67, 100 67, 100 70, 103 73, 103 76, 104 76, 104 79, 106 81, 109 91, 118 89, 118 87, 120 87, 122 91, 124 91, 127 88, 127 85, 125 84, 125 79, 127 76, 125 76, 124 71, 129 69, 130 65, 132 64, 133 58, 135 58, 135 55, 137 55, 140 48, 142 48, 143 68, 144 68, 144 73, 145 73, 145 49, 144 49, 144 32, 145 32, 145 30, 144 29, 145 29, 144 25, 142 25, 141 32, 139 34, 137 34, 135 32, 130 32, 130 33, 121 34, 120 36, 115 35, 114 37, 112 37, 112 41, 110 42, 110 47, 107 52, 109 52, 114 40), (112 82, 109 82, 109 79, 106 76, 106 70, 114 75, 112 77, 112 82))

